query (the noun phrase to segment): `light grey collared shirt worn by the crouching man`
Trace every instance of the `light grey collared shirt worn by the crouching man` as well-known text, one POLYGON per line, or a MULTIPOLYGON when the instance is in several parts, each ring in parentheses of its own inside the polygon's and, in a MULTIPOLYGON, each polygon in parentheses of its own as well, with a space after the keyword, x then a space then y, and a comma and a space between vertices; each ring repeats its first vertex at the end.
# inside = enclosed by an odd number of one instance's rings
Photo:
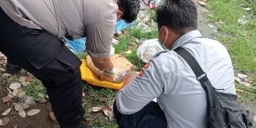
POLYGON ((117 108, 121 113, 133 114, 157 98, 169 128, 206 127, 205 90, 187 62, 173 51, 177 47, 184 47, 197 59, 215 88, 224 89, 223 93, 236 93, 227 49, 194 30, 178 38, 171 50, 156 53, 141 75, 120 90, 117 108))

